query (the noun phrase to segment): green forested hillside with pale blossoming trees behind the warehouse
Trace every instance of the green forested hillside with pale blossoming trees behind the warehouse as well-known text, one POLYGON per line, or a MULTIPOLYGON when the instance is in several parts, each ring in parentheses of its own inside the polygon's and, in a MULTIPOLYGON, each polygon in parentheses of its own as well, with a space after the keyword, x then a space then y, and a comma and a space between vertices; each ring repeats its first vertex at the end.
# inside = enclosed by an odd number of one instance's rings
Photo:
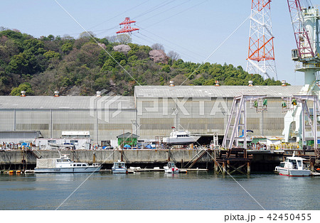
POLYGON ((200 64, 184 62, 172 52, 168 53, 171 57, 154 62, 149 54, 152 48, 129 43, 128 36, 92 39, 85 33, 76 39, 52 35, 33 38, 19 31, 2 30, 0 95, 19 95, 21 90, 27 95, 53 95, 55 90, 61 95, 93 95, 102 89, 132 95, 137 82, 169 85, 174 80, 180 85, 187 77, 183 85, 214 85, 215 80, 221 85, 247 85, 249 80, 254 85, 281 85, 279 81, 263 80, 260 75, 249 75, 240 66, 207 62, 196 70, 200 64), (123 43, 131 49, 124 53, 114 50, 123 43))

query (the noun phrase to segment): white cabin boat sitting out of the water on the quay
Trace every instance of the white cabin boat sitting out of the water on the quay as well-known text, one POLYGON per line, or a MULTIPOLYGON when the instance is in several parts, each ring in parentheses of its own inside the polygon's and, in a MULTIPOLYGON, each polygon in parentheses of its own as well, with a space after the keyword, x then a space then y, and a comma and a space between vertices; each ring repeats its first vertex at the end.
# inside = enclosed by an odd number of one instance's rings
POLYGON ((171 132, 169 137, 164 137, 164 143, 168 145, 183 145, 195 143, 200 136, 193 136, 189 131, 174 131, 171 132))

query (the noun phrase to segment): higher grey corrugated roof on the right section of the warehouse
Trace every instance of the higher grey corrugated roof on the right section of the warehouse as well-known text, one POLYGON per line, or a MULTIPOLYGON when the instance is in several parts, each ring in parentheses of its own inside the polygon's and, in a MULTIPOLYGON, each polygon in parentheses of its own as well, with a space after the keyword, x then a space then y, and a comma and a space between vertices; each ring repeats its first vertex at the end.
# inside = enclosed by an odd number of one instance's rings
POLYGON ((242 94, 290 97, 302 86, 136 86, 135 97, 235 97, 242 94))

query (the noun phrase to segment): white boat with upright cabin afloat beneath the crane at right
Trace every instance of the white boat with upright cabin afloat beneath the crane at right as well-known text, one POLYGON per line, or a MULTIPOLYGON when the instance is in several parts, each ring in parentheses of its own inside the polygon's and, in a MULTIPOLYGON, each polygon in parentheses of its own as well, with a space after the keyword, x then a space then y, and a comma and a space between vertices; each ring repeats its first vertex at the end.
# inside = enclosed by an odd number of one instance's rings
POLYGON ((276 172, 279 175, 287 175, 290 177, 303 177, 311 175, 310 170, 307 170, 304 167, 304 158, 294 156, 294 153, 291 157, 287 157, 284 162, 281 162, 280 165, 275 167, 276 172))

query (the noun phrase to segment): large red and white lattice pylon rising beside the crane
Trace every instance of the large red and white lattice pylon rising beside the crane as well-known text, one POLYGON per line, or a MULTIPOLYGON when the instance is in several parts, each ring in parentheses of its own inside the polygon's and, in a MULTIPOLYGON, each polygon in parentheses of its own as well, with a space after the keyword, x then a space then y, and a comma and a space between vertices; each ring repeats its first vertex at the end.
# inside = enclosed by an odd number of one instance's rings
POLYGON ((277 80, 270 3, 271 0, 252 0, 247 72, 277 80))

